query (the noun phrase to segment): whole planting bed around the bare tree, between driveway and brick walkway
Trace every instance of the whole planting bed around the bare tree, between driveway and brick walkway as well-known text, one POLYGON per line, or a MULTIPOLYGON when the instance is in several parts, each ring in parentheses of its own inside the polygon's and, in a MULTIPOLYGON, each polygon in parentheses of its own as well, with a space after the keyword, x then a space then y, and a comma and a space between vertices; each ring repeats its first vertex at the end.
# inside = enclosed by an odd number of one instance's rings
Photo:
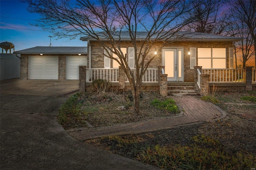
POLYGON ((65 129, 94 128, 175 116, 180 110, 170 100, 158 92, 141 93, 140 115, 135 116, 131 92, 77 93, 60 107, 58 121, 65 129))

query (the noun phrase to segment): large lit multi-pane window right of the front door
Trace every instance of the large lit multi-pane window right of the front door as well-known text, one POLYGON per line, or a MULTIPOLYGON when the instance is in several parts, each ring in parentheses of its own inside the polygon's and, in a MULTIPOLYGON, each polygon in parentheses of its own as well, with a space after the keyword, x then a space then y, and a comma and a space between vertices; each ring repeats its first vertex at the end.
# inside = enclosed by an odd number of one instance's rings
POLYGON ((198 66, 205 69, 226 68, 226 48, 198 48, 198 66))

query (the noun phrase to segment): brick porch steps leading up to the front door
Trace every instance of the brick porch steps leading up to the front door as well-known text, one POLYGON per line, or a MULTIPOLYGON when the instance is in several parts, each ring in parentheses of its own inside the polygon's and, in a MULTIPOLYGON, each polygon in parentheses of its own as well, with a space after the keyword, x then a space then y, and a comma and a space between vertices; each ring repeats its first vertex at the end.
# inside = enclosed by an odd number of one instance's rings
POLYGON ((193 82, 168 82, 168 95, 199 95, 193 82))

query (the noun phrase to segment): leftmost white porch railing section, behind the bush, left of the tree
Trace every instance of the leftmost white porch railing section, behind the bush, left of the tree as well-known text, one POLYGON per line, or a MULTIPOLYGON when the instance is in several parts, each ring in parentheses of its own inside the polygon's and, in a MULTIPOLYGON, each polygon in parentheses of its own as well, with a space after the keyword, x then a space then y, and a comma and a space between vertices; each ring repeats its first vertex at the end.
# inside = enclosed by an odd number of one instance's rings
POLYGON ((93 81, 95 79, 104 79, 110 82, 118 82, 119 69, 86 69, 86 81, 93 81))

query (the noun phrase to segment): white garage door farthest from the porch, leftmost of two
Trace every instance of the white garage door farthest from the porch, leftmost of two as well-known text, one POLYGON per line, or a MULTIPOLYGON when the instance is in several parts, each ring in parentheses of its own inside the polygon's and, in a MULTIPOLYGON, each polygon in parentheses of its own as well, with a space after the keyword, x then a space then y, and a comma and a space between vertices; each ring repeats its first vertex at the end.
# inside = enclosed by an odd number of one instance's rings
POLYGON ((28 79, 58 79, 58 56, 30 56, 28 79))

